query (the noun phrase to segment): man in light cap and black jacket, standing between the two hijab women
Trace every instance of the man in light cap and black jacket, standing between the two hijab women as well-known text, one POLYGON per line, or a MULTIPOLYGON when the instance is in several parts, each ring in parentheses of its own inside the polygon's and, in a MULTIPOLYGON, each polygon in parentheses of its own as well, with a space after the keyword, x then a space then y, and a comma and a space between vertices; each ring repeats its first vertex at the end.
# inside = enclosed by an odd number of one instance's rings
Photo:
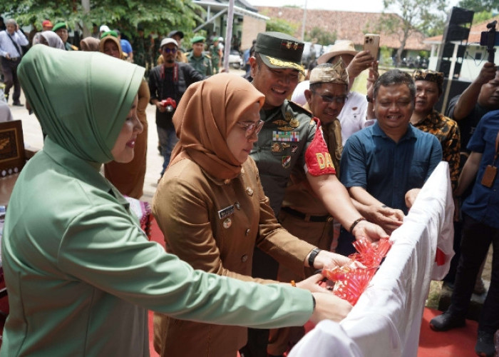
POLYGON ((163 64, 155 66, 149 75, 150 104, 156 106, 156 126, 163 155, 163 169, 170 162, 170 155, 178 138, 175 134, 172 118, 175 108, 190 84, 201 81, 204 77, 188 64, 175 61, 178 51, 177 41, 166 38, 161 41, 160 52, 163 64))

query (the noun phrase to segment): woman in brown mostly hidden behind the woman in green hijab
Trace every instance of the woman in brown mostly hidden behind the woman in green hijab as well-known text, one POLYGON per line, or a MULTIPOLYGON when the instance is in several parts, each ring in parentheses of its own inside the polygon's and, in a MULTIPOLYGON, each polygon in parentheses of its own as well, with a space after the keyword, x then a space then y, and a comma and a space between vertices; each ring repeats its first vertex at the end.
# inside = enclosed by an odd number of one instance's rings
MULTIPOLYGON (((117 59, 123 59, 120 41, 111 35, 101 39, 99 50, 103 54, 108 54, 117 59)), ((148 120, 145 116, 145 109, 150 99, 149 86, 146 81, 142 81, 138 90, 137 116, 144 127, 141 134, 135 141, 135 156, 127 164, 110 161, 104 166, 106 178, 118 188, 121 194, 139 199, 143 195, 146 154, 148 151, 148 120)))

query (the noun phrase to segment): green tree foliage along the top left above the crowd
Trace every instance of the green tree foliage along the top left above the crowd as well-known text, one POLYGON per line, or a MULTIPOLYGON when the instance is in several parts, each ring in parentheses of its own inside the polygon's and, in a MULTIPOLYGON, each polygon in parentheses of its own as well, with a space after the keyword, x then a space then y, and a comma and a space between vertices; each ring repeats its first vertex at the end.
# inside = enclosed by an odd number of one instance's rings
POLYGON ((135 34, 140 23, 147 32, 165 34, 172 29, 192 31, 200 18, 200 6, 191 0, 90 0, 90 12, 83 11, 81 0, 9 0, 4 1, 4 17, 19 24, 36 24, 44 19, 53 24, 66 21, 71 28, 88 29, 93 24, 118 28, 125 34, 135 34))

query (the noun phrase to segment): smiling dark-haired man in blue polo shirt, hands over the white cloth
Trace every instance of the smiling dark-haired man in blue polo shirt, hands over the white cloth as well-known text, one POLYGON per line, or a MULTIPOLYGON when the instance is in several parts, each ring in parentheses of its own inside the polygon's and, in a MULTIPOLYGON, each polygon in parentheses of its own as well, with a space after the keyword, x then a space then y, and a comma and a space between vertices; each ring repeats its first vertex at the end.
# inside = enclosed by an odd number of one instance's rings
MULTIPOLYGON (((402 224, 421 187, 442 160, 442 148, 436 136, 409 123, 416 97, 409 74, 386 72, 374 84, 373 97, 378 120, 346 141, 341 183, 362 216, 391 233, 402 224)), ((353 240, 343 232, 336 251, 353 253, 353 240)))

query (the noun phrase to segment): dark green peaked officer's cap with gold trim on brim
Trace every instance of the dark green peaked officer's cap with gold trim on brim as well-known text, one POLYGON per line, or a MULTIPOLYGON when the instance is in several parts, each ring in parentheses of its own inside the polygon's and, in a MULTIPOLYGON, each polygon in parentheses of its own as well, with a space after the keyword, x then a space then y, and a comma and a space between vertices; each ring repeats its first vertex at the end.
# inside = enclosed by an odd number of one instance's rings
POLYGON ((304 73, 302 54, 304 43, 282 32, 261 32, 254 51, 264 64, 273 69, 297 69, 304 73))

